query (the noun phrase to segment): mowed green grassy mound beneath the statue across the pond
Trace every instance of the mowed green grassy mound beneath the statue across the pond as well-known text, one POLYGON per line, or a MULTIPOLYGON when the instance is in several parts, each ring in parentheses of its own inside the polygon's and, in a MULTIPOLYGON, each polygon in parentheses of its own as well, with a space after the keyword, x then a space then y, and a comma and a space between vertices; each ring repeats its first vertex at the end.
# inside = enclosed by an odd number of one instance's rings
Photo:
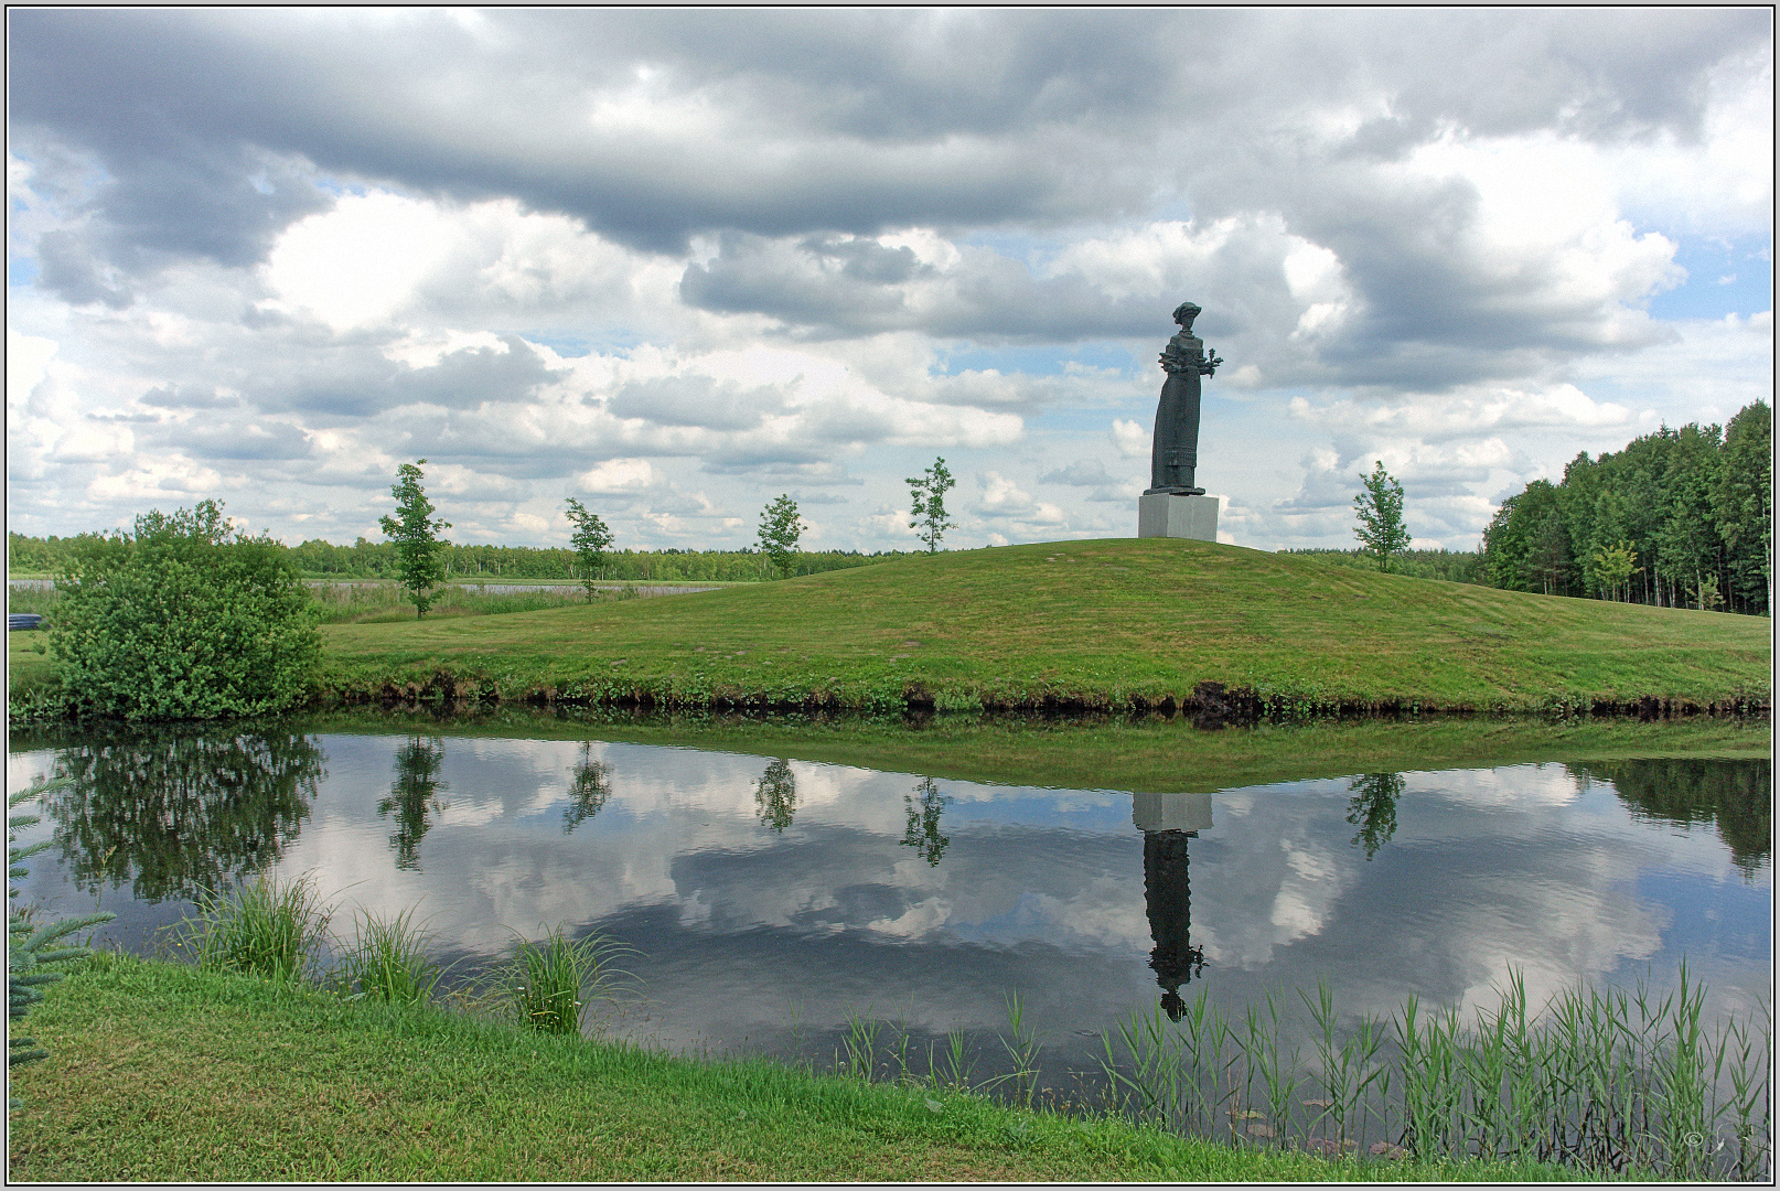
POLYGON ((886 707, 1184 696, 1531 710, 1771 696, 1771 621, 1404 579, 1241 547, 961 550, 511 616, 324 627, 324 687, 886 707))

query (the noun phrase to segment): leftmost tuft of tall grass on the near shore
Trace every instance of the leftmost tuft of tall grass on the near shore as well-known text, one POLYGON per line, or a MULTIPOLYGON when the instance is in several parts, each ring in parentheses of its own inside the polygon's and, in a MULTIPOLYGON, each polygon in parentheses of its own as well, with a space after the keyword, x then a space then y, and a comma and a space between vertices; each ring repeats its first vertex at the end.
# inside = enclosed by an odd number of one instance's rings
POLYGON ((279 881, 262 872, 231 895, 208 894, 198 915, 174 928, 174 947, 201 968, 297 979, 320 952, 331 919, 312 876, 279 881))

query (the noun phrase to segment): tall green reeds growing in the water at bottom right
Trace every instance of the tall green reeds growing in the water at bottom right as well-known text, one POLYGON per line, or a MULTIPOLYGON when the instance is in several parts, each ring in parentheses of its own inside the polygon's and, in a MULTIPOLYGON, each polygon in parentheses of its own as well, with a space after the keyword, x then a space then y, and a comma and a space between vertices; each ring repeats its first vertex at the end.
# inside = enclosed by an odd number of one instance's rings
POLYGON ((1509 1159, 1588 1175, 1760 1180, 1771 1173, 1771 1018, 1702 1022, 1680 968, 1661 997, 1575 988, 1529 1013, 1511 972, 1465 1022, 1415 997, 1392 1018, 1339 1025, 1326 984, 1299 992, 1310 1050, 1283 995, 1232 1020, 1205 993, 1178 1024, 1159 1009, 1102 1036, 1102 1068, 1132 1116, 1237 1145, 1328 1157, 1509 1159), (1305 1095, 1310 1093, 1310 1095, 1305 1095))

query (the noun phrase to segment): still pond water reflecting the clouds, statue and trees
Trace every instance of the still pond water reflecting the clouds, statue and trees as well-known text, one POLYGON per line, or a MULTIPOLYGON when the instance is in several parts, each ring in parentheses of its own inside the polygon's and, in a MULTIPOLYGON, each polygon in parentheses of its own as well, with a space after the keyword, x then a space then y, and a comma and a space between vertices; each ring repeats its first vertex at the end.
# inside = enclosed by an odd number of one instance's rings
MULTIPOLYGON (((1766 760, 1371 773, 1130 794, 605 741, 187 730, 12 741, 73 783, 25 903, 150 952, 199 888, 313 872, 415 908, 459 974, 514 933, 641 954, 614 1024, 671 1049, 828 1056, 854 1015, 1006 1031, 1088 1065, 1134 1009, 1326 979, 1349 1013, 1533 1004, 1588 979, 1769 1002, 1766 760), (826 1041, 824 1041, 826 1040, 826 1041)), ((1080 1068, 1077 1068, 1080 1070, 1080 1068)))

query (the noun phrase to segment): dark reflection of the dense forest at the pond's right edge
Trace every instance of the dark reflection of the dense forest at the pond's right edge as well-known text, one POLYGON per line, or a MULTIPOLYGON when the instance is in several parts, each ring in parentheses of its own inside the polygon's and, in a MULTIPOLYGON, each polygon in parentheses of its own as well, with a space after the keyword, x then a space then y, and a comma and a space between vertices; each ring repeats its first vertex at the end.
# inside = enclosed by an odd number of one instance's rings
POLYGON ((1766 757, 1604 760, 1568 769, 1584 782, 1611 782, 1634 817, 1716 824, 1744 878, 1773 860, 1773 762, 1766 757))

